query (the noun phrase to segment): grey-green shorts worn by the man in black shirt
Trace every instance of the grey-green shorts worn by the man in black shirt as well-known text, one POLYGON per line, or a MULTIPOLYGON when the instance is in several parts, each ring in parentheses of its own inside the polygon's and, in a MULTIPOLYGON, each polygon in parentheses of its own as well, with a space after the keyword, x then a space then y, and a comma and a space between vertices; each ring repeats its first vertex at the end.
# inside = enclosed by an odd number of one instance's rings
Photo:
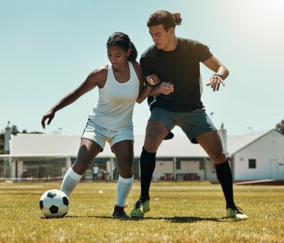
POLYGON ((198 143, 195 136, 200 133, 217 131, 204 108, 188 112, 173 112, 155 107, 148 121, 151 120, 161 121, 169 131, 174 126, 179 126, 192 143, 198 143))

